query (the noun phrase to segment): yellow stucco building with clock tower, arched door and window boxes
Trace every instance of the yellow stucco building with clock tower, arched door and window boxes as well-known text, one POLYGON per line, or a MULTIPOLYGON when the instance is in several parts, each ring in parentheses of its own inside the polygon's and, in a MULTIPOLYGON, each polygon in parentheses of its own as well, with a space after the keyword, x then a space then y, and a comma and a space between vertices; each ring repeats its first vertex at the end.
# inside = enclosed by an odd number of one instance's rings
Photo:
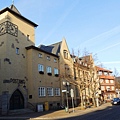
POLYGON ((38 25, 14 5, 0 11, 0 113, 61 104, 59 57, 35 47, 38 25))

